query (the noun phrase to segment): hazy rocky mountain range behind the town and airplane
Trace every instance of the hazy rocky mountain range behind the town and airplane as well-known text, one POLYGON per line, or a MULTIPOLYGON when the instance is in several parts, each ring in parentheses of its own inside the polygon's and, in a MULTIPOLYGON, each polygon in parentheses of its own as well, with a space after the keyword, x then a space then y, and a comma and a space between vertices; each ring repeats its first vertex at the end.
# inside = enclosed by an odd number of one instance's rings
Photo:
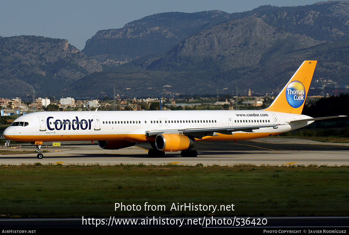
MULTIPOLYGON (((0 37, 2 96, 164 96, 278 92, 304 60, 314 79, 349 83, 349 2, 160 13, 100 30, 80 52, 64 39, 0 37)), ((318 89, 319 84, 311 85, 318 89)), ((314 92, 316 93, 316 92, 314 92)))

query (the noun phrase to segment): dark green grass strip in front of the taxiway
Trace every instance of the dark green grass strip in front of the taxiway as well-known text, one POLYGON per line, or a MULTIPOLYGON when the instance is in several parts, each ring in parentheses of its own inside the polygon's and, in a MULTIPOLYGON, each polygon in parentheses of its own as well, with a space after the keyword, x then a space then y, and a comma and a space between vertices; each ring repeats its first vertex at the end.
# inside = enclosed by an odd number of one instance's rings
POLYGON ((0 166, 5 217, 204 216, 178 205, 231 205, 214 216, 348 216, 349 167, 326 166, 0 166), (115 211, 114 203, 141 205, 115 211), (144 211, 144 204, 166 210, 144 211))

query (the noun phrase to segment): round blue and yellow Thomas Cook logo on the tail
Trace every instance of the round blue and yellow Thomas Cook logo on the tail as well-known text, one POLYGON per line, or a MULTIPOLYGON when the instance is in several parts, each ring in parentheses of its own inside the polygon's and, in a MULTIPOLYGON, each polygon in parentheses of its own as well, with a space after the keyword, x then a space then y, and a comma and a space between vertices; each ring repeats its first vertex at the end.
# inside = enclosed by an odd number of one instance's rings
POLYGON ((302 106, 305 100, 305 88, 299 81, 293 81, 286 88, 287 102, 294 108, 302 106))

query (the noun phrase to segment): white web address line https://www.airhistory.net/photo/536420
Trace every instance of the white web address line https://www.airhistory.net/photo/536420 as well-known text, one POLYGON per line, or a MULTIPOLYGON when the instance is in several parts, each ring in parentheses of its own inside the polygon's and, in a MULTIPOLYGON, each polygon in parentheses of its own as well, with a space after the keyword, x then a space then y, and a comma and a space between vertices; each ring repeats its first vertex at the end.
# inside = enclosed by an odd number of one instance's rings
POLYGON ((82 225, 94 225, 98 226, 132 226, 132 225, 144 225, 144 226, 157 226, 157 225, 174 225, 178 227, 201 225, 202 227, 211 226, 259 226, 266 225, 266 218, 214 218, 203 217, 203 218, 161 218, 161 217, 146 217, 142 219, 119 219, 110 217, 109 219, 95 219, 95 218, 84 218, 82 217, 82 225))

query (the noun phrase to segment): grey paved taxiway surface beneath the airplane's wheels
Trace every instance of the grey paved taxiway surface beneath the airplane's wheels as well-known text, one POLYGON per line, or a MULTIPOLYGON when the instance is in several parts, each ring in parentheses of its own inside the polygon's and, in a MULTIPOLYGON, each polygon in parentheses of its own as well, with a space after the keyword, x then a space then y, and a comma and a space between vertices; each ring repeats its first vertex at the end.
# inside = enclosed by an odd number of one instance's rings
MULTIPOLYGON (((199 155, 195 158, 183 158, 180 152, 167 152, 164 157, 148 157, 150 144, 137 144, 121 150, 104 150, 91 142, 62 142, 60 147, 52 147, 47 142, 43 159, 37 159, 36 153, 1 155, 0 164, 21 165, 34 164, 183 164, 232 166, 237 164, 254 165, 349 165, 349 144, 330 144, 304 139, 263 138, 256 141, 196 142, 195 150, 199 155), (61 151, 61 152, 54 152, 61 151)), ((13 151, 34 151, 35 145, 23 145, 22 149, 13 151)), ((5 150, 4 148, 0 149, 5 150)), ((8 150, 8 149, 7 149, 8 150)))

